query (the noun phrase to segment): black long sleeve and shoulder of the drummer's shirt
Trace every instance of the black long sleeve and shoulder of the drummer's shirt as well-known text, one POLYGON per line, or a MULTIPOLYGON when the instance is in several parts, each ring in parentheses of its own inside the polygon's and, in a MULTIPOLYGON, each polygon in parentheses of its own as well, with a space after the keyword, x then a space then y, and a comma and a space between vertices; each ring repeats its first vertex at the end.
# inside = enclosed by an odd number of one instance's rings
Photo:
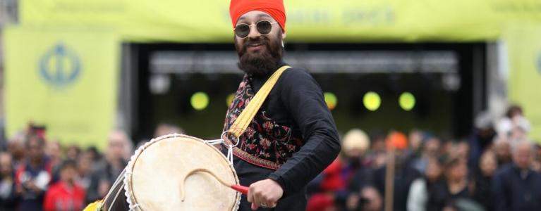
MULTIPOLYGON (((255 92, 268 77, 250 77, 255 92)), ((300 150, 268 177, 288 196, 300 191, 336 158, 341 149, 338 132, 322 89, 302 68, 289 68, 281 75, 262 109, 272 120, 293 125, 304 139, 300 150)))

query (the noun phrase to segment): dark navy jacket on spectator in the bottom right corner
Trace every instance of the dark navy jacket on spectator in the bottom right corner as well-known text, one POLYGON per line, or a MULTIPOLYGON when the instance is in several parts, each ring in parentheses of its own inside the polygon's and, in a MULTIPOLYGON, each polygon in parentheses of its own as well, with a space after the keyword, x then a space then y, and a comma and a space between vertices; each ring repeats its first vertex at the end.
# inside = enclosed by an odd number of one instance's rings
POLYGON ((494 175, 492 193, 497 211, 541 210, 541 174, 506 165, 494 175))

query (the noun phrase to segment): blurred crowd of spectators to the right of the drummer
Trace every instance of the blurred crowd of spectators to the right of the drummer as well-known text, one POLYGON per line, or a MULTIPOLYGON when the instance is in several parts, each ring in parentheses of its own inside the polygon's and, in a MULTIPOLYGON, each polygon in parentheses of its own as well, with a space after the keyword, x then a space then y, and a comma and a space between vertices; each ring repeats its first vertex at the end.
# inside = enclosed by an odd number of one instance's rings
POLYGON ((307 210, 541 210, 541 146, 529 130, 518 106, 497 121, 481 113, 459 140, 352 129, 339 158, 311 182, 307 210))

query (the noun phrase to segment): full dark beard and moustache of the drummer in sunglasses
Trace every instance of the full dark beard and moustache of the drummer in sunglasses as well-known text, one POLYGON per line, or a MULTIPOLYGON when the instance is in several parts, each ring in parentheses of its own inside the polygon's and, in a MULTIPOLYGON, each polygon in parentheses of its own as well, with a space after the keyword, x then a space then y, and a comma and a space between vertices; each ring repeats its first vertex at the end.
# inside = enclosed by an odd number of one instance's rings
POLYGON ((274 72, 278 63, 281 60, 283 48, 281 46, 281 34, 279 33, 277 39, 271 41, 267 36, 260 36, 257 39, 250 37, 245 38, 243 46, 238 46, 237 39, 235 39, 235 47, 238 53, 238 68, 243 70, 248 75, 265 76, 274 72), (265 50, 257 53, 247 53, 246 49, 249 44, 253 43, 265 44, 265 50))

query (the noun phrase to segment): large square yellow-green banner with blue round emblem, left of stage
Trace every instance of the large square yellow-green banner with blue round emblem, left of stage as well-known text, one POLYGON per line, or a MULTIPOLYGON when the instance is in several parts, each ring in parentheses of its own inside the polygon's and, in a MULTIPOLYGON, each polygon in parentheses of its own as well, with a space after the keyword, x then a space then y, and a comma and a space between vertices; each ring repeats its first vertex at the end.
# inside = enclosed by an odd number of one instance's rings
POLYGON ((116 33, 10 27, 4 34, 6 132, 28 122, 61 143, 103 149, 114 126, 116 33))

